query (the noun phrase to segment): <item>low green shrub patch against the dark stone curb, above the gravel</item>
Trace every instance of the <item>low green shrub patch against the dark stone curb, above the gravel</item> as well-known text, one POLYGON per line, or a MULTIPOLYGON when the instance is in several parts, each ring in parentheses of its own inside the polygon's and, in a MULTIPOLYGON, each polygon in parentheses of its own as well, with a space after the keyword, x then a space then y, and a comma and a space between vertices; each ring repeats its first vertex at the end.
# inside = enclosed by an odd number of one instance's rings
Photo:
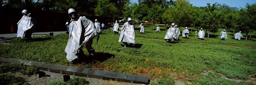
POLYGON ((6 72, 21 72, 24 75, 33 75, 39 73, 37 66, 26 66, 23 63, 2 63, 0 65, 0 73, 6 72))

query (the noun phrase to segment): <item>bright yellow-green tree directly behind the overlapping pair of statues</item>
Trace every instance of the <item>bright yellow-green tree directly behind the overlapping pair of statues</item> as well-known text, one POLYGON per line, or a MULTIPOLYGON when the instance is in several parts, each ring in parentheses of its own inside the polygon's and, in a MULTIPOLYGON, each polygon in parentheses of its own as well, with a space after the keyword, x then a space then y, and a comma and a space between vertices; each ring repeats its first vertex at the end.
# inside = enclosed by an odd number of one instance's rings
POLYGON ((176 0, 173 7, 167 8, 163 13, 163 22, 174 22, 178 26, 190 26, 193 22, 192 4, 187 0, 176 0))

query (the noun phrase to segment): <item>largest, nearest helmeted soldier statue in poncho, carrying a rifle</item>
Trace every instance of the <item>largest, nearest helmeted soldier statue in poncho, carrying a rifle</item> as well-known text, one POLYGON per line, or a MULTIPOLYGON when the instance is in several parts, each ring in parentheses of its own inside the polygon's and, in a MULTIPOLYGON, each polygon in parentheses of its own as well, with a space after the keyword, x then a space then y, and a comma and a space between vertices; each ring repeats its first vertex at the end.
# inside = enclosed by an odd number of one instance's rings
MULTIPOLYGON (((73 8, 71 10, 73 10, 73 8)), ((83 52, 83 50, 80 49, 74 53, 73 51, 88 39, 90 40, 86 43, 87 51, 90 55, 95 55, 95 50, 91 47, 93 38, 90 38, 93 36, 93 34, 97 34, 93 21, 84 17, 79 17, 79 14, 77 14, 75 11, 69 14, 71 14, 70 17, 72 16, 72 22, 69 24, 69 39, 65 49, 65 52, 67 53, 67 60, 73 61, 75 58, 77 58, 77 53, 83 52)))

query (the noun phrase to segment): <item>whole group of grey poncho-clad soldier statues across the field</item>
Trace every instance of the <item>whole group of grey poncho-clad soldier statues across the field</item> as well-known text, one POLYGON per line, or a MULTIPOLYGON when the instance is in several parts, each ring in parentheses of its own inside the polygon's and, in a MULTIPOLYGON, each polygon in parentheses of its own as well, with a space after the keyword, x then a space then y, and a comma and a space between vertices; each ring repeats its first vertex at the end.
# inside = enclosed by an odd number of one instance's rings
MULTIPOLYGON (((27 39, 31 39, 31 34, 33 33, 33 29, 35 26, 35 19, 31 17, 31 13, 28 13, 27 10, 23 10, 23 17, 19 20, 18 24, 18 30, 17 30, 17 37, 25 37, 27 39)), ((96 52, 94 48, 91 46, 93 44, 93 38, 95 36, 98 36, 97 38, 97 44, 99 39, 99 34, 101 33, 101 27, 100 23, 97 19, 95 19, 95 22, 82 17, 76 12, 73 8, 70 8, 68 10, 68 15, 71 18, 71 22, 69 23, 69 39, 67 46, 65 48, 65 52, 67 53, 67 60, 73 61, 79 56, 79 54, 83 53, 83 45, 86 46, 86 49, 89 53, 89 56, 95 56, 96 52)), ((120 28, 121 32, 119 32, 119 24, 117 21, 113 24, 113 32, 119 33, 119 40, 118 42, 123 42, 124 47, 127 45, 135 45, 135 32, 134 32, 134 23, 132 23, 132 19, 128 18, 128 21, 124 23, 123 27, 120 28)), ((158 33, 160 31, 160 27, 157 26, 156 32, 158 33)), ((144 26, 143 23, 139 25, 139 32, 144 33, 144 26)), ((182 37, 188 38, 189 31, 187 27, 183 29, 182 31, 182 37)), ((198 33, 199 39, 204 39, 204 31, 201 28, 201 30, 198 33)), ((173 42, 174 40, 179 40, 180 36, 180 30, 177 28, 177 25, 174 25, 174 23, 171 24, 171 27, 168 29, 165 40, 168 40, 169 42, 173 42)), ((239 33, 236 33, 235 39, 240 40, 241 37, 241 31, 239 33)), ((222 31, 220 34, 220 37, 222 40, 227 38, 226 31, 222 31)), ((97 45, 96 45, 97 47, 97 45)))

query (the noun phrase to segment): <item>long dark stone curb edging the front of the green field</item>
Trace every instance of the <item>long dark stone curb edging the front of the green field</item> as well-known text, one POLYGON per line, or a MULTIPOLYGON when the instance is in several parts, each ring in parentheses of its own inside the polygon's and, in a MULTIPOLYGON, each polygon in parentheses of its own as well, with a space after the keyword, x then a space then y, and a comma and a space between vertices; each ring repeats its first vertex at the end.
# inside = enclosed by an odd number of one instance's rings
POLYGON ((137 84, 149 84, 150 82, 150 80, 148 80, 148 77, 139 76, 139 75, 130 75, 130 74, 124 74, 124 73, 117 73, 117 72, 109 72, 109 71, 78 68, 78 67, 65 66, 65 65, 19 60, 15 58, 0 57, 0 64, 11 63, 11 62, 24 63, 24 65, 30 65, 30 66, 35 65, 35 66, 38 66, 40 70, 66 74, 66 75, 75 75, 79 77, 97 78, 102 80, 112 80, 112 81, 118 81, 118 82, 137 83, 137 84))

